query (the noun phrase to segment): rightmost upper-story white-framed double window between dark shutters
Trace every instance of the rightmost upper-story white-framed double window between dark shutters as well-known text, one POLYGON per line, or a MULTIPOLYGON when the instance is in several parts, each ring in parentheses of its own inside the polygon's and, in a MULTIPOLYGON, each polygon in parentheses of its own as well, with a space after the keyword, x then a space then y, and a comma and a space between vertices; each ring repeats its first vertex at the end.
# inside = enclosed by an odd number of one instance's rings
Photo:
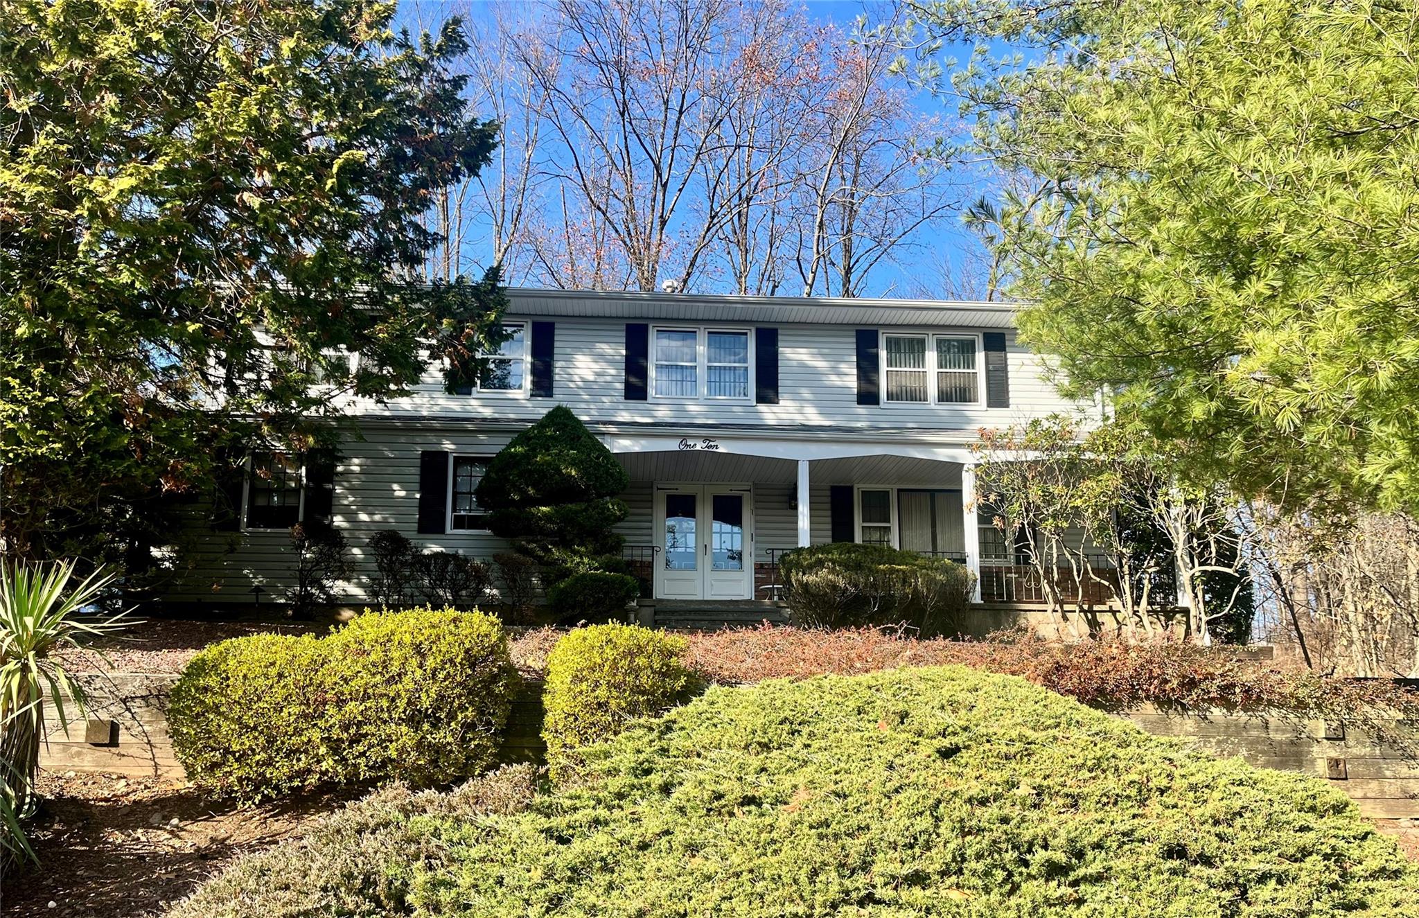
POLYGON ((978 335, 884 332, 883 402, 905 404, 978 404, 981 339, 978 335))

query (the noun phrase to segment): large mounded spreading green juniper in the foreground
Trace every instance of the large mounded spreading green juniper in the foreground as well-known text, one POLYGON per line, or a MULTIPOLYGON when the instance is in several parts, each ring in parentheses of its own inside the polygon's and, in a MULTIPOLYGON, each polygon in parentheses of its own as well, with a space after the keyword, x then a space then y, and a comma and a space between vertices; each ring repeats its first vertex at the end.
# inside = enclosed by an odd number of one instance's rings
MULTIPOLYGON (((420 857, 346 892, 377 890, 386 912, 295 900, 271 874, 206 901, 237 900, 224 918, 1419 909, 1419 867, 1325 782, 1188 752, 965 667, 711 688, 582 759, 585 780, 525 812, 409 817, 400 844, 420 857)), ((387 858, 379 841, 319 856, 387 858)))

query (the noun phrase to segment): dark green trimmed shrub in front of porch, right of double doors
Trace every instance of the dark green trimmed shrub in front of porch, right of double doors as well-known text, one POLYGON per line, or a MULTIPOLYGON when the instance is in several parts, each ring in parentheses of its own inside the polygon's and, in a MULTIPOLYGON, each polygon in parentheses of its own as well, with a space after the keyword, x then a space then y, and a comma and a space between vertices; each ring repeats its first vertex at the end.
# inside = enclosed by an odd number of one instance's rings
POLYGON ((782 572, 783 597, 805 627, 905 623, 944 634, 956 630, 975 589, 952 560, 853 542, 788 552, 782 572))

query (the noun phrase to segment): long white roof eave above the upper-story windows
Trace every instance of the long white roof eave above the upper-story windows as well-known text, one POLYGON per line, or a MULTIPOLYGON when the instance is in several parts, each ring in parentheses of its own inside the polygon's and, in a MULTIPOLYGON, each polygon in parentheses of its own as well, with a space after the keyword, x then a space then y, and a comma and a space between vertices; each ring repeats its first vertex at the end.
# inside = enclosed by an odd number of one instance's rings
POLYGON ((901 325, 1013 328, 1019 304, 941 299, 843 299, 836 297, 738 297, 640 291, 508 291, 509 312, 614 319, 769 322, 775 325, 901 325))

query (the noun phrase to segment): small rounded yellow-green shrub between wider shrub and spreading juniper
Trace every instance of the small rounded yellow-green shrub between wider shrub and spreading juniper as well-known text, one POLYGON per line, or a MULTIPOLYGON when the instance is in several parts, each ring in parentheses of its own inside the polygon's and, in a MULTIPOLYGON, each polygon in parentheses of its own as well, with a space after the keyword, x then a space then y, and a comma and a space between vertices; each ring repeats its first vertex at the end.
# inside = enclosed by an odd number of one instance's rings
POLYGON ((575 770, 576 751, 658 714, 690 687, 685 638, 633 624, 593 624, 559 640, 546 658, 542 738, 553 776, 575 770))

